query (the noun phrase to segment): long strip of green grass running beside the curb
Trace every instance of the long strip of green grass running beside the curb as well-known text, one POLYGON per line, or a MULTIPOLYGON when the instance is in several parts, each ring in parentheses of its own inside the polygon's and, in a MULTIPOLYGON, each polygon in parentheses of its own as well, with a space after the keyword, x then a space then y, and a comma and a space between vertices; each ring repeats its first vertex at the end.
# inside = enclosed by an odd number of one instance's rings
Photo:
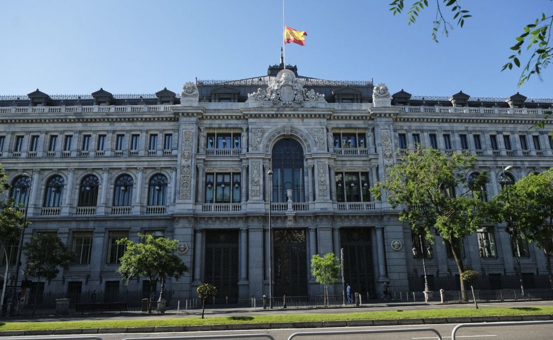
POLYGON ((491 315, 533 315, 553 314, 553 306, 519 307, 519 308, 458 308, 409 311, 357 312, 344 314, 293 314, 293 315, 259 315, 227 317, 181 317, 170 319, 140 320, 83 320, 56 322, 0 322, 0 331, 60 330, 66 328, 128 328, 152 326, 193 326, 217 325, 227 323, 266 323, 266 322, 301 322, 301 321, 343 321, 343 320, 377 320, 387 318, 429 318, 459 316, 491 315))

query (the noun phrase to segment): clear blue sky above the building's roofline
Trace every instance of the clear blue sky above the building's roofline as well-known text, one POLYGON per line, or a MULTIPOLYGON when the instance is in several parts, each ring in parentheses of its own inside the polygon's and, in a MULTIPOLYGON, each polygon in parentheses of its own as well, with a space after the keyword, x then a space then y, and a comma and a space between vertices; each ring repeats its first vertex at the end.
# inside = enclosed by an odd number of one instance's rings
MULTIPOLYGON (((306 46, 286 45, 286 63, 302 76, 373 78, 392 93, 553 98, 553 65, 521 88, 520 70, 500 72, 515 37, 553 13, 553 1, 461 1, 473 17, 439 44, 430 36, 435 8, 408 26, 390 2, 286 0, 286 24, 307 31, 306 46)), ((281 0, 4 0, 0 8, 0 94, 178 93, 195 77, 265 75, 283 39, 281 0)))

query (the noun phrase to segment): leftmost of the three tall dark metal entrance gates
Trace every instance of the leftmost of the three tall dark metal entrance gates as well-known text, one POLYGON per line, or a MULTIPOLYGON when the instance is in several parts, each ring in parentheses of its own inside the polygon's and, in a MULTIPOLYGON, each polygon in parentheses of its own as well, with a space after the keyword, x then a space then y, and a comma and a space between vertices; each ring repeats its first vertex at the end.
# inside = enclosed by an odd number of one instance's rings
POLYGON ((238 302, 238 230, 206 231, 205 259, 205 282, 217 287, 215 303, 225 303, 227 296, 238 302))

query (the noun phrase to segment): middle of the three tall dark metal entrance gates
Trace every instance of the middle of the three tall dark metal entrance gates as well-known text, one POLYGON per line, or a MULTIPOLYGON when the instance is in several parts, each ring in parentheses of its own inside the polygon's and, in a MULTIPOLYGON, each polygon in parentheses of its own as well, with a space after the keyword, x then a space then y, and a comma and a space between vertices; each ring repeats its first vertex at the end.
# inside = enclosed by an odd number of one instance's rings
POLYGON ((274 296, 307 295, 305 230, 274 230, 274 296))

